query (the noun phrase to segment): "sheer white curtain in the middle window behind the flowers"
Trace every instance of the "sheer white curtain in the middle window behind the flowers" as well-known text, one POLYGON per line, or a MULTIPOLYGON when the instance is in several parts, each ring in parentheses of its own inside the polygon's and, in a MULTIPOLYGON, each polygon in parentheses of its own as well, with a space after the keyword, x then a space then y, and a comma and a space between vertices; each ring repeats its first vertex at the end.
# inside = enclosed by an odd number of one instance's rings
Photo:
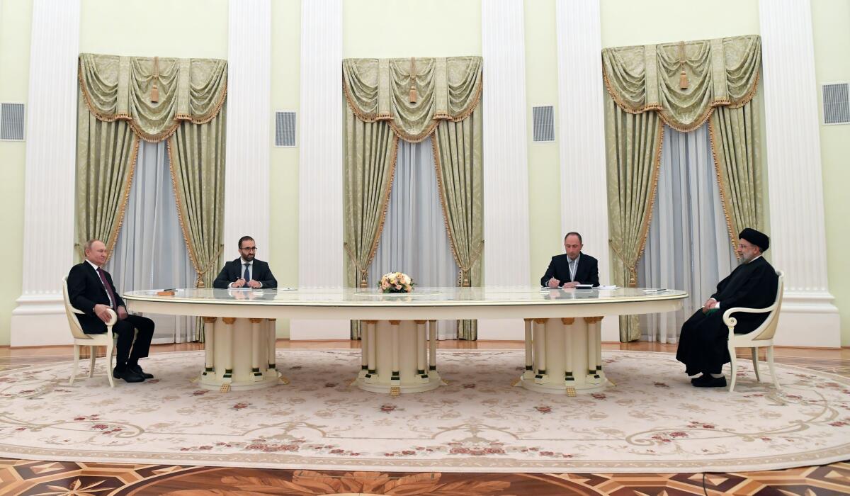
MULTIPOLYGON (((431 138, 399 141, 398 153, 381 240, 369 265, 369 285, 374 288, 383 274, 399 271, 420 288, 456 286, 457 265, 445 232, 431 138)), ((438 321, 437 329, 438 339, 457 339, 456 321, 438 321)))

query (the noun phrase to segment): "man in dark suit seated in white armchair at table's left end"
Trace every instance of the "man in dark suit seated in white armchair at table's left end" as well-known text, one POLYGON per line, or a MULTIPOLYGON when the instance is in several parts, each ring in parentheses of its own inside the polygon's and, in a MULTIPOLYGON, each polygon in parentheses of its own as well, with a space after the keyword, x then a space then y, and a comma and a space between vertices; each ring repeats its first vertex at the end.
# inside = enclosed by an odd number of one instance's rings
POLYGON ((82 264, 74 265, 68 273, 68 299, 74 308, 86 312, 84 315, 77 314, 83 332, 104 334, 111 308, 118 315, 118 321, 112 326, 112 332, 118 336, 112 375, 127 382, 153 379, 153 375, 139 367, 139 358, 148 356, 154 322, 147 317, 127 313, 109 272, 100 268, 106 263, 106 245, 103 242, 96 239, 87 242, 85 254, 82 264), (139 334, 133 340, 137 330, 139 334))

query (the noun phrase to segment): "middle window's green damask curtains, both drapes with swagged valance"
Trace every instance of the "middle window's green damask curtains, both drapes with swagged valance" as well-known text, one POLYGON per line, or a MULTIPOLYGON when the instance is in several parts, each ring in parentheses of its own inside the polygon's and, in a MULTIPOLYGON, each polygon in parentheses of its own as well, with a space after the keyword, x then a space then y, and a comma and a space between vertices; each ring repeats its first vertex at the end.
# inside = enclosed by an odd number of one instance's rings
MULTIPOLYGON (((481 284, 483 248, 480 245, 484 225, 480 182, 481 118, 473 116, 481 99, 481 88, 480 57, 343 60, 343 94, 350 111, 346 120, 345 151, 345 223, 351 226, 345 234, 349 285, 359 285, 365 279, 388 205, 395 145, 387 144, 383 129, 410 142, 420 142, 433 135, 434 160, 440 162, 435 164, 438 174, 450 174, 446 184, 441 185, 441 193, 445 195, 446 231, 459 266, 458 285, 464 281, 466 285, 481 284), (415 94, 414 101, 411 101, 411 93, 415 94), (352 139, 356 134, 352 129, 363 129, 363 133, 372 129, 369 132, 376 138, 369 146, 377 153, 361 153, 365 145, 362 138, 352 139), (378 144, 384 144, 385 148, 378 144), (392 157, 382 157, 382 150, 389 151, 392 157), (378 168, 374 168, 372 174, 355 170, 371 156, 376 157, 377 164, 383 164, 380 170, 392 164, 388 176, 378 174, 378 168), (388 182, 384 184, 384 180, 388 182), (360 210, 355 208, 358 206, 360 210), (452 222, 455 222, 454 227, 452 222)), ((359 337, 358 326, 352 323, 354 339, 359 337)), ((459 326, 462 338, 475 339, 475 334, 473 321, 462 322, 459 326)))

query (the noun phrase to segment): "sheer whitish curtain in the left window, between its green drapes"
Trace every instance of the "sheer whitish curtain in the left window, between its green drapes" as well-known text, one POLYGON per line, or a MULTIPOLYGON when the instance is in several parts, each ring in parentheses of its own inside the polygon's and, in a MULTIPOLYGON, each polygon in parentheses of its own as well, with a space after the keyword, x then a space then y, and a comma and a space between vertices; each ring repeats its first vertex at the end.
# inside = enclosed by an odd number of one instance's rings
MULTIPOLYGON (((197 274, 180 231, 165 141, 139 143, 124 224, 107 270, 121 293, 195 285, 197 274)), ((192 339, 195 317, 146 316, 156 322, 154 343, 192 339)))

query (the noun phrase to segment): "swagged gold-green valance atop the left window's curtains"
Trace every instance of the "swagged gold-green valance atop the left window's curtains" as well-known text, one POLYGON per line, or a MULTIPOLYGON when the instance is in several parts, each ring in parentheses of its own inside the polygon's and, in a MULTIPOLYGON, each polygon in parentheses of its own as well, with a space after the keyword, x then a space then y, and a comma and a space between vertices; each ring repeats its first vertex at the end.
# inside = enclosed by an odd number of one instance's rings
POLYGON ((142 140, 156 142, 181 122, 203 124, 218 115, 227 96, 227 60, 80 54, 79 79, 95 117, 127 121, 142 140))

